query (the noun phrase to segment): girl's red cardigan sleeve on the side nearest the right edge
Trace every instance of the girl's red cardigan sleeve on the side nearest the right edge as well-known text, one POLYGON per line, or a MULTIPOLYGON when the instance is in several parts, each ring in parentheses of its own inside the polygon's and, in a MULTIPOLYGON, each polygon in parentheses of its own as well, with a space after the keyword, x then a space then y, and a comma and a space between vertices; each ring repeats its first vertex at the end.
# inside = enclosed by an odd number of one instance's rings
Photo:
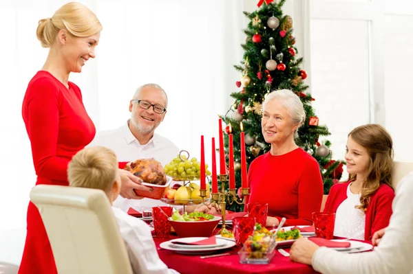
POLYGON ((390 216, 392 216, 392 203, 394 192, 390 187, 382 187, 383 191, 377 193, 376 212, 370 229, 370 237, 366 240, 372 240, 374 232, 388 227, 390 216))

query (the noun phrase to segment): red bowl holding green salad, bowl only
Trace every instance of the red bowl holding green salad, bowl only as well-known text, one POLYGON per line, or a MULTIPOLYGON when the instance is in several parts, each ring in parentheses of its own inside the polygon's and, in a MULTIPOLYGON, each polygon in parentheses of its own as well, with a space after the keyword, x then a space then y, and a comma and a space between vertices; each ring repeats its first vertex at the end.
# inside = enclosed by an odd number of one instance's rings
POLYGON ((172 220, 169 222, 180 238, 187 237, 210 237, 220 222, 221 217, 215 216, 212 220, 202 221, 180 221, 172 220))

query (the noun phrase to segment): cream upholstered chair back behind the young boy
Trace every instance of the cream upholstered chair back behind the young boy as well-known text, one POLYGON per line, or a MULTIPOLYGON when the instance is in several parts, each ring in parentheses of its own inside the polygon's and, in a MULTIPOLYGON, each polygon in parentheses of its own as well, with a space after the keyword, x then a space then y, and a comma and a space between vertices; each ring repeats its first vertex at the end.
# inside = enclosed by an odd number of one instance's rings
POLYGON ((59 274, 131 274, 125 242, 105 193, 36 185, 30 200, 43 219, 59 274))

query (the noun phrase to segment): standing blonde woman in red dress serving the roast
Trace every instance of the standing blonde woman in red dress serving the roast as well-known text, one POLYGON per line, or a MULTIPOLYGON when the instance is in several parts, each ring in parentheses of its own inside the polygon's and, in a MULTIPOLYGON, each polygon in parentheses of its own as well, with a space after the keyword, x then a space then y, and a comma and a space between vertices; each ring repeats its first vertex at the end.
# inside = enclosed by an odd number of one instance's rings
MULTIPOLYGON (((37 38, 50 51, 41 71, 28 84, 22 108, 32 146, 36 185, 68 185, 70 159, 94 138, 95 126, 83 106, 81 90, 69 81, 69 74, 80 73, 85 63, 95 57, 101 30, 96 15, 81 3, 67 3, 52 18, 39 21, 37 38)), ((133 188, 148 190, 130 172, 119 172, 122 196, 140 198, 133 188)), ((27 221, 19 273, 57 273, 43 221, 32 203, 27 221)))

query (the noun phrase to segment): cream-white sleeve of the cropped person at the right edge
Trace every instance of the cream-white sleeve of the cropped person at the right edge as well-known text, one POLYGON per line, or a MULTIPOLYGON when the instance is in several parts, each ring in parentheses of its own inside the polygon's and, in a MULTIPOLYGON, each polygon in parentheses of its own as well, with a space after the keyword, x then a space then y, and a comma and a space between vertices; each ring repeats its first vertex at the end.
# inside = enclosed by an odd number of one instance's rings
POLYGON ((346 254, 320 247, 313 268, 320 273, 413 274, 413 172, 397 185, 390 224, 372 252, 346 254))

